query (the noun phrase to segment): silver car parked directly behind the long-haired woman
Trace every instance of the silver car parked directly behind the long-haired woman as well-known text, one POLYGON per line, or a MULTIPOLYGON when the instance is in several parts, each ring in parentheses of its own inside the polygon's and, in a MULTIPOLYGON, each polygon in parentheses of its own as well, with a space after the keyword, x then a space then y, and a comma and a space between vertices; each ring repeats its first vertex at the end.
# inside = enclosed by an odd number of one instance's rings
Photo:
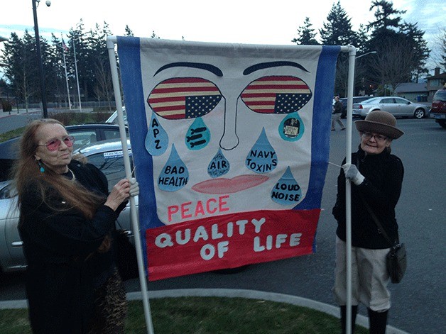
MULTIPOLYGON (((128 141, 129 154, 131 154, 128 141)), ((121 141, 107 140, 82 147, 80 152, 88 162, 102 170, 109 181, 109 190, 120 179, 124 179, 124 159, 121 141)), ((18 235, 17 196, 11 187, 11 181, 0 182, 0 272, 13 272, 26 268, 23 255, 22 241, 18 235)), ((138 197, 135 198, 138 205, 138 197)), ((119 226, 123 230, 131 231, 129 204, 118 218, 119 226)), ((119 228, 118 225, 116 225, 119 228)), ((131 235, 131 233, 129 233, 131 235)), ((133 237, 133 235, 131 235, 133 237)), ((133 241, 133 238, 131 238, 133 241)))

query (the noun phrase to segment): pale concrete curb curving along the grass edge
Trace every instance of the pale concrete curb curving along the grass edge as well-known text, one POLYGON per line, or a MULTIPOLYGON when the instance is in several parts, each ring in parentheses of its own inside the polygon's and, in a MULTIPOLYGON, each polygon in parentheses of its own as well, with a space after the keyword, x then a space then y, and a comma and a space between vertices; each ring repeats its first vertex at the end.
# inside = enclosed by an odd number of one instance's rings
MULTIPOLYGON (((129 292, 126 294, 129 301, 137 301, 142 299, 141 292, 129 292)), ((303 306, 321 311, 339 318, 339 308, 329 304, 313 301, 299 296, 290 296, 288 294, 276 294, 274 292, 263 292, 257 290, 243 289, 173 289, 173 290, 156 290, 148 291, 149 299, 173 298, 173 297, 226 297, 226 298, 246 298, 259 299, 266 301, 276 301, 278 303, 291 304, 295 306, 303 306)), ((16 301, 0 301, 0 309, 4 308, 28 308, 26 299, 16 301)), ((366 316, 357 315, 357 324, 365 328, 369 328, 369 319, 366 316)), ((409 334, 391 325, 387 325, 387 334, 409 334)))

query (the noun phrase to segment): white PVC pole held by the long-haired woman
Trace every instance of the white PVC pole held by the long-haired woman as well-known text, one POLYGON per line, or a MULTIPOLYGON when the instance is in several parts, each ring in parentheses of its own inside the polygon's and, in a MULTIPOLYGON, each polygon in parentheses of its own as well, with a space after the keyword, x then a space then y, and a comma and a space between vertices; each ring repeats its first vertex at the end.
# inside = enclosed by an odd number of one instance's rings
MULTIPOLYGON (((110 66, 112 67, 112 81, 114 89, 114 101, 116 102, 116 109, 118 111, 119 134, 121 135, 122 152, 124 155, 124 167, 126 169, 126 177, 131 178, 131 167, 129 150, 127 148, 127 135, 124 125, 124 118, 122 113, 121 89, 119 89, 118 67, 114 53, 114 44, 116 37, 107 38, 107 49, 109 51, 110 66)), ((129 111, 127 111, 129 113, 129 111)), ((143 252, 141 251, 141 233, 139 231, 139 221, 136 214, 135 199, 130 197, 130 213, 131 213, 131 228, 135 236, 136 258, 138 260, 139 284, 141 286, 141 294, 143 296, 144 317, 146 318, 147 333, 153 334, 153 324, 151 318, 150 305, 148 301, 146 270, 143 263, 143 252)))

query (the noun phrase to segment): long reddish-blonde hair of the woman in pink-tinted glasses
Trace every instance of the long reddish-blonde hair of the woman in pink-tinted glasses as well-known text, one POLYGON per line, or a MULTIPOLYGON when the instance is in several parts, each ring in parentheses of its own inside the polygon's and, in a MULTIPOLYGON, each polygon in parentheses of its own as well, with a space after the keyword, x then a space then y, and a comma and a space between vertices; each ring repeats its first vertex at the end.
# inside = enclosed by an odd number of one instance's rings
POLYGON ((60 196, 67 202, 68 208, 54 208, 56 211, 64 211, 70 208, 75 208, 80 211, 87 219, 91 219, 94 213, 97 211, 99 205, 105 201, 104 196, 98 196, 82 187, 77 182, 71 182, 71 180, 62 175, 47 168, 45 172, 40 172, 34 155, 38 147, 38 140, 36 133, 41 126, 45 124, 60 124, 52 118, 43 118, 40 120, 32 121, 28 124, 23 131, 23 135, 20 142, 20 156, 18 163, 13 169, 14 182, 18 193, 18 206, 20 208, 23 200, 23 194, 27 185, 31 182, 36 184, 38 191, 40 191, 41 199, 43 203, 51 206, 48 201, 48 191, 55 189, 60 196))

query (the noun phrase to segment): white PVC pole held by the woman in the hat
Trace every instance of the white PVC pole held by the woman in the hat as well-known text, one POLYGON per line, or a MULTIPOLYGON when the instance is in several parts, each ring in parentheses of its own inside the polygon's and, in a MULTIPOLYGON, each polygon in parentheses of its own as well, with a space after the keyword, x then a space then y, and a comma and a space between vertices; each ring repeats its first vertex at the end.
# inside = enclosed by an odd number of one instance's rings
MULTIPOLYGON (((352 163, 352 110, 353 110, 353 87, 354 87, 354 60, 357 54, 356 48, 349 45, 349 77, 347 89, 347 139, 345 143, 345 162, 352 163)), ((349 179, 345 179, 345 253, 347 269, 347 305, 346 305, 346 334, 352 333, 352 186, 349 179)))

